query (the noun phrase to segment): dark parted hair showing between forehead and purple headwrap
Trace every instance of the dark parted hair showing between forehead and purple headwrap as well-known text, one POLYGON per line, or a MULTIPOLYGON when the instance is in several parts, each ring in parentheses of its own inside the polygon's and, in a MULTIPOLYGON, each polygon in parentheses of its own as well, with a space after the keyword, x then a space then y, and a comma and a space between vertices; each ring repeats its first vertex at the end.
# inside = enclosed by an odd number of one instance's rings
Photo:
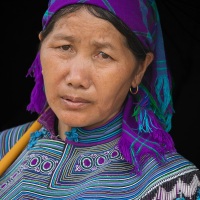
POLYGON ((92 15, 95 17, 104 19, 110 22, 122 35, 126 38, 127 47, 131 50, 131 52, 135 55, 138 60, 144 60, 146 57, 146 53, 149 52, 148 49, 144 47, 144 45, 139 41, 135 33, 130 30, 130 28, 122 22, 117 16, 113 13, 104 10, 103 8, 90 5, 90 4, 72 4, 66 7, 61 8, 57 11, 51 18, 47 27, 41 32, 42 40, 41 42, 47 37, 47 35, 52 31, 54 28, 55 23, 60 19, 60 17, 73 13, 80 8, 86 8, 92 15))

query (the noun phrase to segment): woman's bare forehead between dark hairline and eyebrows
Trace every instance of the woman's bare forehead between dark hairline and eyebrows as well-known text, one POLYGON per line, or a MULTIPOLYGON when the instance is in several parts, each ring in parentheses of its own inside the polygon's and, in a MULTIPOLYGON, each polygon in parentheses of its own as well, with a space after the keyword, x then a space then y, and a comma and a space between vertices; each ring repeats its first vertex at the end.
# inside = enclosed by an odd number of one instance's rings
POLYGON ((63 15, 54 25, 54 32, 66 32, 80 36, 126 42, 125 37, 107 20, 98 18, 85 8, 63 15))

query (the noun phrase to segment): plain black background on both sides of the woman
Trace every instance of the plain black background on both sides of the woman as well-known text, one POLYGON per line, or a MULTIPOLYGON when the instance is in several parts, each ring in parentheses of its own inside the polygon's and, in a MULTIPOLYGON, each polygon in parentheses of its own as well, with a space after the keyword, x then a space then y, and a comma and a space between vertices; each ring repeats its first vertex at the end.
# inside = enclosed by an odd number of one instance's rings
MULTIPOLYGON (((177 151, 200 168, 200 6, 194 0, 156 2, 174 84, 170 134, 177 151)), ((26 74, 37 52, 47 3, 1 2, 0 131, 38 117, 26 110, 34 86, 26 74)))

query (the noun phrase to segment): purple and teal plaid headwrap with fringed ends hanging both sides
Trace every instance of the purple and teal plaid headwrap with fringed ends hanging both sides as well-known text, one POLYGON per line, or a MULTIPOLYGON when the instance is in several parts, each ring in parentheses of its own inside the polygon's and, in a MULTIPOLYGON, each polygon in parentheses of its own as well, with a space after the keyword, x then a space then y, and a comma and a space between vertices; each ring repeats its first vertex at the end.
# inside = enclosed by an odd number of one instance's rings
MULTIPOLYGON (((150 73, 144 75, 145 82, 139 86, 138 101, 128 94, 123 116, 122 137, 119 148, 127 161, 139 172, 140 162, 145 155, 158 161, 166 152, 175 151, 168 131, 173 114, 171 78, 167 69, 159 14, 155 0, 50 0, 42 25, 48 25, 51 17, 60 8, 70 4, 91 4, 110 11, 119 17, 139 38, 141 43, 154 53, 149 66, 150 73)), ((39 52, 29 69, 33 72, 35 87, 27 109, 42 113, 46 105, 43 90, 39 52)))

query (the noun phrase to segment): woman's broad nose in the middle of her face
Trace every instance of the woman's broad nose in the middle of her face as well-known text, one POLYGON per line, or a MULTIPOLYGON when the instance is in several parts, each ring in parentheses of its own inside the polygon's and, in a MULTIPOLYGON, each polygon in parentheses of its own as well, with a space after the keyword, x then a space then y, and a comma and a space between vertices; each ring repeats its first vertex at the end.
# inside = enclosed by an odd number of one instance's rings
POLYGON ((91 62, 81 56, 76 56, 69 63, 69 71, 66 75, 66 84, 74 88, 90 87, 91 62))

